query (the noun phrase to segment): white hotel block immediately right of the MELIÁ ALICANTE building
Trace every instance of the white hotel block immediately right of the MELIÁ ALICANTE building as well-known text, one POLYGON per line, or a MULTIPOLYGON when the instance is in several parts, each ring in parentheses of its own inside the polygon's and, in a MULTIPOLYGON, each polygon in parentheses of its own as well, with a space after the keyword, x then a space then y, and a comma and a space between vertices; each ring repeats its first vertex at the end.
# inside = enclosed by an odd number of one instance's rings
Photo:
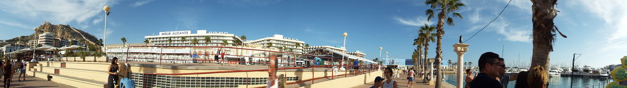
POLYGON ((272 37, 265 37, 261 39, 256 39, 252 41, 244 42, 246 44, 261 44, 264 47, 271 47, 274 49, 280 49, 280 47, 285 47, 283 52, 290 52, 296 54, 304 54, 305 51, 303 49, 304 41, 298 41, 298 39, 292 39, 288 37, 283 37, 283 35, 275 34, 272 37), (290 51, 290 49, 292 51, 290 51))

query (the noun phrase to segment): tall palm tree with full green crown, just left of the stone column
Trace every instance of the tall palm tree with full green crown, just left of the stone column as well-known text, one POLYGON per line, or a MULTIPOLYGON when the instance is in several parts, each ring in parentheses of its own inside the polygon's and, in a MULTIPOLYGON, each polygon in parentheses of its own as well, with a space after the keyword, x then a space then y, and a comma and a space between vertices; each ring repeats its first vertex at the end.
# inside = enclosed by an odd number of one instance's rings
MULTIPOLYGON (((448 24, 449 26, 455 25, 455 23, 453 23, 453 18, 451 18, 450 16, 452 15, 453 17, 463 18, 460 13, 457 13, 455 11, 457 11, 461 6, 466 5, 463 4, 461 0, 426 0, 424 1, 424 4, 429 6, 429 9, 427 9, 424 13, 428 16, 427 21, 434 17, 434 11, 440 11, 437 16, 438 24, 436 26, 436 29, 438 29, 438 31, 436 36, 438 37, 438 42, 435 50, 435 62, 438 63, 436 68, 436 74, 440 74, 441 70, 439 67, 439 63, 442 61, 442 36, 444 36, 444 19, 446 19, 446 24, 448 24)), ((442 76, 438 75, 438 77, 436 78, 435 86, 436 88, 442 87, 442 76)))

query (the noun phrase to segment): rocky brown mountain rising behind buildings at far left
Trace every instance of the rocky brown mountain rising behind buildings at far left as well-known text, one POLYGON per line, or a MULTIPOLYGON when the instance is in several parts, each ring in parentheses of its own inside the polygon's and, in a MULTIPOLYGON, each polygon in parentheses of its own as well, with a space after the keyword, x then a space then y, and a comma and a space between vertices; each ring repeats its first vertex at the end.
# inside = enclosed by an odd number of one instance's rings
MULTIPOLYGON (((44 22, 39 27, 37 27, 37 29, 34 31, 37 31, 37 34, 33 33, 29 36, 20 36, 21 42, 28 42, 29 40, 33 40, 34 38, 36 38, 35 35, 39 35, 43 32, 50 32, 51 34, 55 35, 55 38, 61 37, 62 39, 68 39, 68 40, 74 39, 76 41, 85 40, 85 43, 88 43, 88 44, 95 44, 96 42, 98 42, 97 37, 85 31, 81 31, 80 29, 70 27, 70 25, 63 25, 63 24, 53 25, 53 24, 50 24, 50 22, 44 22)), ((13 39, 7 40, 7 42, 17 42, 18 40, 19 38, 15 37, 13 39)))

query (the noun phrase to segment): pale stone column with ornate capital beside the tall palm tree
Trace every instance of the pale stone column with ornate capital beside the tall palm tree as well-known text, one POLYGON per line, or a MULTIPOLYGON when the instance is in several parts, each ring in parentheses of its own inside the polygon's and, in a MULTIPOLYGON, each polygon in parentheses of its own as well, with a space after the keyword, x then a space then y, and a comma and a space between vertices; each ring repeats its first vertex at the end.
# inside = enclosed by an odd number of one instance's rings
POLYGON ((457 88, 463 88, 463 70, 465 70, 463 68, 463 62, 464 62, 464 54, 466 53, 466 51, 468 51, 468 46, 470 46, 470 44, 461 44, 461 43, 455 43, 453 45, 454 49, 453 51, 457 52, 457 88))

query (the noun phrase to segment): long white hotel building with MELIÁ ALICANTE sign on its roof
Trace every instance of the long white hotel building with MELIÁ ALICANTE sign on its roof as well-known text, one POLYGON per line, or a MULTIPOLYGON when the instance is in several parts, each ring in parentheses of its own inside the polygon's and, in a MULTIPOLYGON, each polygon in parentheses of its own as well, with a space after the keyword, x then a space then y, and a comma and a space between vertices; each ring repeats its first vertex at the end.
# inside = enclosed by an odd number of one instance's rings
POLYGON ((226 46, 238 46, 241 45, 242 40, 235 34, 229 34, 229 32, 207 32, 206 30, 198 30, 196 34, 192 34, 191 31, 167 31, 159 32, 157 36, 144 36, 144 38, 150 41, 150 44, 155 46, 222 46, 223 41, 226 41, 226 46), (204 38, 210 37, 211 41, 205 42, 204 38), (182 39, 185 39, 183 41, 182 39), (198 44, 194 45, 191 42, 194 38, 198 40, 198 44), (172 41, 168 41, 171 39, 172 41))

